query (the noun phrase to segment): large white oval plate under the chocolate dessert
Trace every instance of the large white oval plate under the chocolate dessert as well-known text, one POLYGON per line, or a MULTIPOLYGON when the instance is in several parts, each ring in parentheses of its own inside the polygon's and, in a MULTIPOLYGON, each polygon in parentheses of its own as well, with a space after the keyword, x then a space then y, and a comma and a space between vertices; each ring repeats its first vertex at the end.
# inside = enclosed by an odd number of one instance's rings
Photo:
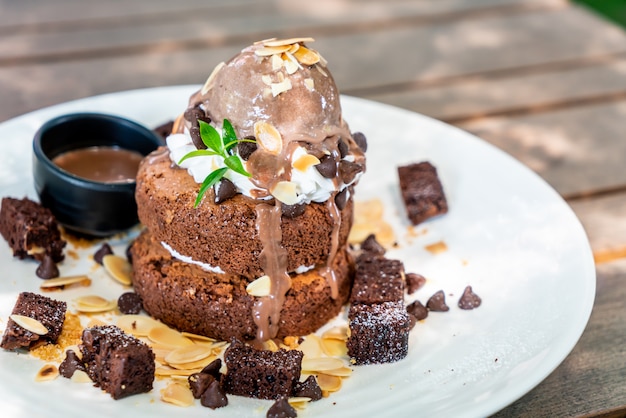
MULTIPOLYGON (((0 125, 0 195, 36 198, 31 176, 31 139, 53 116, 75 111, 117 113, 148 126, 175 117, 195 86, 109 94, 78 100, 0 125)), ((415 113, 350 97, 344 115, 369 140, 368 171, 357 200, 380 198, 399 249, 389 257, 428 278, 415 297, 423 303, 443 289, 451 309, 431 313, 411 332, 408 357, 395 364, 355 367, 344 387, 311 404, 303 416, 485 416, 541 382, 580 337, 591 313, 595 269, 585 233, 567 204, 538 176, 489 144, 415 113), (450 212, 408 233, 396 167, 428 160, 439 171, 450 212), (433 255, 425 245, 444 241, 433 255), (456 306, 466 285, 483 299, 480 308, 456 306)), ((116 241, 122 251, 124 239, 116 241)), ((91 289, 55 293, 71 300, 78 292, 119 295, 123 289, 92 268, 76 250, 62 274, 90 272, 91 289)), ((37 291, 36 263, 11 257, 0 243, 0 324, 17 294, 37 291)), ((0 325, 2 327, 2 325, 0 325)), ((113 401, 91 387, 59 378, 35 383, 42 362, 0 352, 2 416, 166 417, 265 416, 268 401, 230 397, 227 408, 199 405, 180 410, 150 394, 113 401)))

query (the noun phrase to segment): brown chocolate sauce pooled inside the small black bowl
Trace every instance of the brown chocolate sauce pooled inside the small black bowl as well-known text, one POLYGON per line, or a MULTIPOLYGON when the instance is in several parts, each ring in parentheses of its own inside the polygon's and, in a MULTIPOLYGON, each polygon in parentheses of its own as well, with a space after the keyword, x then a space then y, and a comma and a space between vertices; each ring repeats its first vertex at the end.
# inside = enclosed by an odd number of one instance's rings
POLYGON ((52 159, 65 171, 87 180, 102 183, 135 181, 143 155, 116 147, 80 148, 52 159))

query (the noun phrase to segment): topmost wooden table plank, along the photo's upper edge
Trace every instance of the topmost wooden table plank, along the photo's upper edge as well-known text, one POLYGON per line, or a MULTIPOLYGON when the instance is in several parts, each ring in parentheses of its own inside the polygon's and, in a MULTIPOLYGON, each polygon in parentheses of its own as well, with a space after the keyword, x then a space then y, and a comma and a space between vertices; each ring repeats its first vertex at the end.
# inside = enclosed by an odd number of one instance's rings
MULTIPOLYGON (((565 0, 549 0, 550 3, 565 0)), ((211 19, 228 11, 234 11, 245 18, 261 8, 275 11, 278 17, 288 17, 297 14, 308 14, 311 17, 335 18, 348 17, 360 9, 377 10, 380 15, 386 15, 390 9, 406 8, 421 10, 423 14, 441 13, 449 11, 471 11, 485 7, 500 7, 511 5, 541 4, 539 0, 438 0, 437 2, 407 2, 404 0, 387 0, 384 3, 378 0, 152 0, 149 3, 140 1, 124 2, 120 7, 116 2, 99 2, 94 7, 93 2, 81 0, 56 0, 41 2, 37 0, 20 0, 18 2, 0 1, 0 32, 7 33, 6 27, 15 28, 18 32, 46 30, 48 28, 75 28, 92 25, 115 25, 115 21, 144 22, 157 21, 160 17, 171 20, 211 19), (242 7, 243 6, 243 7, 242 7), (261 7, 257 7, 261 6, 261 7), (81 23, 82 22, 82 23, 81 23), (84 22, 88 24, 85 25, 84 22)), ((546 1, 543 2, 544 4, 546 1)))

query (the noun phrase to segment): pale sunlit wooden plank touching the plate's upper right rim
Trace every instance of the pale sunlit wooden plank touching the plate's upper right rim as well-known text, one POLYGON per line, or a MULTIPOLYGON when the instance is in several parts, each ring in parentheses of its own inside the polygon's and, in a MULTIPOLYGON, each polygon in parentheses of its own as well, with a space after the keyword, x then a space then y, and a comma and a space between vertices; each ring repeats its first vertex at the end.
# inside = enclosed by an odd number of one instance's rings
POLYGON ((561 195, 623 186, 626 100, 459 126, 513 155, 561 195))

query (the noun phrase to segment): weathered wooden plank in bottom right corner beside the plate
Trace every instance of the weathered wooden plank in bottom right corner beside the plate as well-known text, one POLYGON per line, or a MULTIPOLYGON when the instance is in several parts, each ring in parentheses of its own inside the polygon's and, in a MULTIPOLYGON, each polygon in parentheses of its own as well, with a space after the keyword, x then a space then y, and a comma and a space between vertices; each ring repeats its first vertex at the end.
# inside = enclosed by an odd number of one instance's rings
POLYGON ((607 411, 613 414, 608 416, 624 416, 626 260, 599 265, 597 273, 594 310, 574 350, 548 378, 494 418, 605 416, 607 411))

